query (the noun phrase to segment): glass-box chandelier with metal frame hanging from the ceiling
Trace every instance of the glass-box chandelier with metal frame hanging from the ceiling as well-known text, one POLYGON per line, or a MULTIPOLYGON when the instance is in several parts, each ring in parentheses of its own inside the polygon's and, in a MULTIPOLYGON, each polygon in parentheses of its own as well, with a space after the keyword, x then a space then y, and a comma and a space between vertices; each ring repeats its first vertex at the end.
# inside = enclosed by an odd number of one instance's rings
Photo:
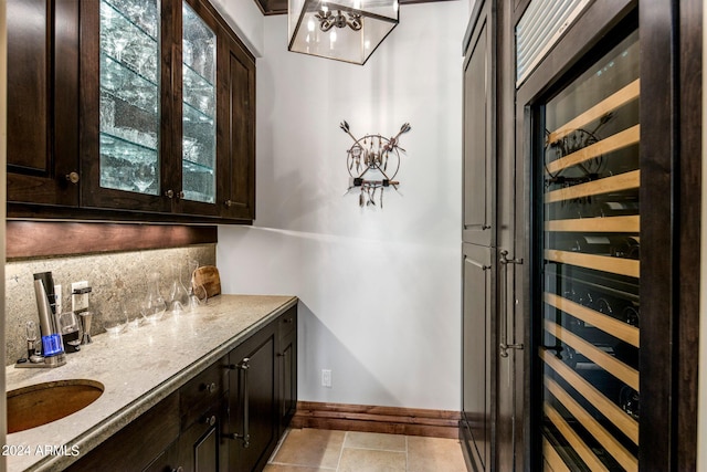
POLYGON ((288 50, 365 64, 398 25, 398 0, 288 0, 288 50))

